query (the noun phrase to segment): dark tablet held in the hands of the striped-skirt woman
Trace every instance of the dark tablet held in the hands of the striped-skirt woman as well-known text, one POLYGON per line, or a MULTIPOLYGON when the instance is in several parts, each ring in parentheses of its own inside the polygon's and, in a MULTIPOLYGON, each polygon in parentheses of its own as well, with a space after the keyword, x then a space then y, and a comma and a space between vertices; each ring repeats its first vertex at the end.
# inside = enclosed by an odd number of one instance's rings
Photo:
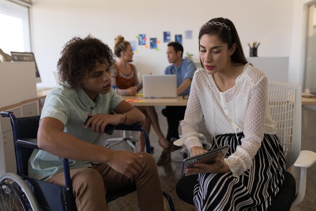
POLYGON ((224 158, 225 154, 227 153, 229 149, 229 145, 217 148, 217 149, 213 149, 210 150, 208 152, 199 154, 199 155, 195 155, 193 157, 188 157, 183 159, 182 162, 182 176, 185 175, 185 169, 187 167, 192 166, 194 163, 207 163, 207 164, 211 164, 216 162, 215 158, 216 157, 220 157, 221 159, 224 158))

